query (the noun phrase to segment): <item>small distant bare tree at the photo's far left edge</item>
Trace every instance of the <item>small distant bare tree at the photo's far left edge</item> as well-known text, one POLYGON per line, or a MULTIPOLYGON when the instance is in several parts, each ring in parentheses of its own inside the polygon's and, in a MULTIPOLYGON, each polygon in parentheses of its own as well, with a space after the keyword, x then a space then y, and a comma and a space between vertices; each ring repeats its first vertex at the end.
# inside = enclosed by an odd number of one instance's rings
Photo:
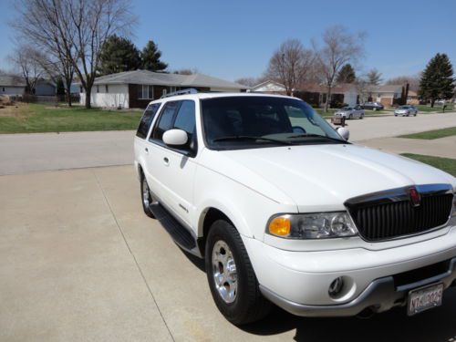
POLYGON ((16 47, 13 54, 8 57, 15 71, 26 81, 26 93, 35 94, 36 83, 43 75, 43 68, 36 61, 36 51, 27 46, 16 47))

